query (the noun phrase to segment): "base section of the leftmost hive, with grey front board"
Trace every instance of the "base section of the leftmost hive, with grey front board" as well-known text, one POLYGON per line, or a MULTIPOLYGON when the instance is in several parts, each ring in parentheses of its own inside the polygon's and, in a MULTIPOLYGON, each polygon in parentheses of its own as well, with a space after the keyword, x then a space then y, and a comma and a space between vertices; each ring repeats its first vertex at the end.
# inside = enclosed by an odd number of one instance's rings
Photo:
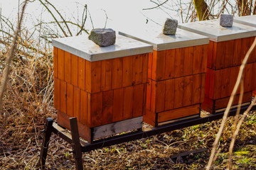
MULTIPOLYGON (((57 123, 63 128, 70 130, 70 116, 58 111, 57 123)), ((132 118, 128 120, 122 120, 107 125, 97 126, 95 128, 89 128, 78 121, 79 136, 84 138, 87 142, 93 142, 102 137, 108 137, 111 135, 117 135, 121 132, 128 132, 130 130, 142 129, 142 116, 132 118)))

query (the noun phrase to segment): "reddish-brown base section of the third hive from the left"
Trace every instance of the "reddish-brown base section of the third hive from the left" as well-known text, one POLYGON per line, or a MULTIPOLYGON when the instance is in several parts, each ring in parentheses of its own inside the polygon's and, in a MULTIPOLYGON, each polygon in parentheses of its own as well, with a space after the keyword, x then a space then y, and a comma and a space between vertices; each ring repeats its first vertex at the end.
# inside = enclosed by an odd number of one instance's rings
MULTIPOLYGON (((229 99, 230 99, 230 97, 219 98, 219 99, 213 100, 213 99, 205 97, 204 102, 201 104, 201 108, 203 111, 207 111, 209 113, 214 114, 220 109, 225 109, 226 106, 228 106, 229 99)), ((242 104, 248 103, 251 100, 252 100, 252 91, 247 92, 243 95, 242 104)), ((238 105, 238 101, 239 101, 239 94, 235 95, 232 106, 238 105)))

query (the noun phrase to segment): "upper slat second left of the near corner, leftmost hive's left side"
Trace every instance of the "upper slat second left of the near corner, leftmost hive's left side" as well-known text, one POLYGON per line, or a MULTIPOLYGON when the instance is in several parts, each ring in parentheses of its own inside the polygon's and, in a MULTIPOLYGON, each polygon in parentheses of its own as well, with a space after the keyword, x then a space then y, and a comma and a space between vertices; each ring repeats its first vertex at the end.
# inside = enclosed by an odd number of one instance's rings
POLYGON ((85 61, 78 57, 78 87, 85 90, 85 61))

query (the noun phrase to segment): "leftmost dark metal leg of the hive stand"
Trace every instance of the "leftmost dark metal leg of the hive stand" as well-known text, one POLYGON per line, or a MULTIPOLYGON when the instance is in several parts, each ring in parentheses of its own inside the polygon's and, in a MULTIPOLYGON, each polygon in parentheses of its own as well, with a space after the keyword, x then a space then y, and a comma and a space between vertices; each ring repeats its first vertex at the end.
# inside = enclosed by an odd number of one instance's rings
POLYGON ((43 143, 41 148, 40 159, 38 162, 38 168, 41 168, 41 169, 45 169, 45 166, 46 166, 46 157, 47 157, 52 127, 53 127, 53 119, 46 118, 46 124, 43 130, 43 143))

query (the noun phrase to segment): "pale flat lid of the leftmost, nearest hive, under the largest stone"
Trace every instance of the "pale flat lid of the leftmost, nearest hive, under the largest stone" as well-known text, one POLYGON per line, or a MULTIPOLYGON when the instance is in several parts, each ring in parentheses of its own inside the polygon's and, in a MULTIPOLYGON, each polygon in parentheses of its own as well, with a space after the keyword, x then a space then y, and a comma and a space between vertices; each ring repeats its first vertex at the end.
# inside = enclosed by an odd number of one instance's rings
POLYGON ((117 35, 115 44, 108 47, 96 45, 91 40, 88 40, 88 35, 56 38, 53 39, 53 46, 90 62, 140 55, 153 51, 152 45, 122 35, 117 35))

